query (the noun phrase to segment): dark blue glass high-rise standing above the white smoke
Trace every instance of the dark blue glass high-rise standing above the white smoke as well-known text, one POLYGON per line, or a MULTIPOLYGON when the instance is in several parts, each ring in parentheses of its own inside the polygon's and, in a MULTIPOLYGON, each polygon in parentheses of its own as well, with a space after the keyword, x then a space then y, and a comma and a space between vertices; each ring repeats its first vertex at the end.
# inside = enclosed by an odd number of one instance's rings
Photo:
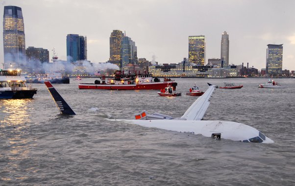
POLYGON ((78 34, 67 35, 68 61, 74 62, 87 59, 87 38, 78 34))

